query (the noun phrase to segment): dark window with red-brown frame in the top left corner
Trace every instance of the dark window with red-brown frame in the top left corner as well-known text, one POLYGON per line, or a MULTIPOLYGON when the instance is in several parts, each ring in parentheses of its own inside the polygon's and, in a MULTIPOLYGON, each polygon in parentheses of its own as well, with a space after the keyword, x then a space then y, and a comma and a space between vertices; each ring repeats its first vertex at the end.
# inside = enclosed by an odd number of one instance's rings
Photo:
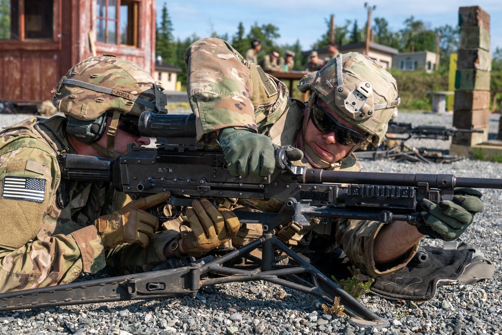
POLYGON ((53 40, 53 0, 0 0, 0 40, 53 40))

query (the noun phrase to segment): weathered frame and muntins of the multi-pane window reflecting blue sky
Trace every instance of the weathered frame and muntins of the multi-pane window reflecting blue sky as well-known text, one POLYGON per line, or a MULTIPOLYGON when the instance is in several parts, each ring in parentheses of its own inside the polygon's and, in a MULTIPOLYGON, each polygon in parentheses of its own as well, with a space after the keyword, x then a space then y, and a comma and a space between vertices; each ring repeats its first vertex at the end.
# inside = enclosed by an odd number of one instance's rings
MULTIPOLYGON (((140 0, 115 0, 116 1, 116 18, 115 19, 109 19, 108 18, 108 1, 109 0, 104 0, 105 1, 105 17, 98 17, 97 16, 97 0, 95 2, 95 11, 94 11, 94 31, 95 31, 95 43, 96 45, 100 46, 116 46, 116 47, 124 47, 124 48, 135 48, 135 49, 140 49, 140 20, 141 20, 141 1, 140 0), (133 44, 122 44, 120 41, 120 6, 122 5, 122 1, 134 4, 133 5, 133 17, 136 20, 133 20, 133 28, 128 29, 130 32, 133 33, 132 39, 133 39, 133 44), (105 22, 105 40, 100 41, 98 40, 98 28, 97 28, 97 23, 99 20, 103 20, 105 22), (108 42, 108 22, 115 22, 115 30, 116 30, 116 42, 108 42)), ((128 20, 129 23, 129 20, 128 20)))

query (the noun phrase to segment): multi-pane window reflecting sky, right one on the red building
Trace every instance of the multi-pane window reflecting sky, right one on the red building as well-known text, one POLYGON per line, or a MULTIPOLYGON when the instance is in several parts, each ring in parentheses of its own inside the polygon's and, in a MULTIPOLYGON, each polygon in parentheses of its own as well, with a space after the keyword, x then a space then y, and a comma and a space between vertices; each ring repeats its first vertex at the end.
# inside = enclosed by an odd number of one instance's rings
POLYGON ((97 0, 97 41, 138 47, 138 27, 138 1, 97 0))

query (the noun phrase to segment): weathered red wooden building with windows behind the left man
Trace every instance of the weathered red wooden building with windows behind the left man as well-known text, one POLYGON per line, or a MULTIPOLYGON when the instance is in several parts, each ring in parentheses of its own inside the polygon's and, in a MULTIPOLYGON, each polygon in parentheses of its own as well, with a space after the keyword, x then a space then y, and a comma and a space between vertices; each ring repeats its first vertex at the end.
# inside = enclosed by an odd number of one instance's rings
POLYGON ((155 70, 155 0, 0 0, 0 100, 38 103, 103 53, 155 70))

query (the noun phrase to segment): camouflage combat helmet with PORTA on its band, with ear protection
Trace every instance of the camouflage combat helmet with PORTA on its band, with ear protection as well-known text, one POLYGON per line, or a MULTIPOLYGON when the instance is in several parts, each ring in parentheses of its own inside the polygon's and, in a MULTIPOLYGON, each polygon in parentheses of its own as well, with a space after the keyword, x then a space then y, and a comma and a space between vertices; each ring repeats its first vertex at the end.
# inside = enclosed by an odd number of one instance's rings
POLYGON ((164 88, 132 62, 112 55, 89 57, 73 66, 54 90, 52 103, 67 117, 66 132, 101 153, 117 157, 113 140, 118 121, 138 119, 145 110, 167 113, 164 88), (108 148, 95 142, 103 136, 107 116, 108 148))

